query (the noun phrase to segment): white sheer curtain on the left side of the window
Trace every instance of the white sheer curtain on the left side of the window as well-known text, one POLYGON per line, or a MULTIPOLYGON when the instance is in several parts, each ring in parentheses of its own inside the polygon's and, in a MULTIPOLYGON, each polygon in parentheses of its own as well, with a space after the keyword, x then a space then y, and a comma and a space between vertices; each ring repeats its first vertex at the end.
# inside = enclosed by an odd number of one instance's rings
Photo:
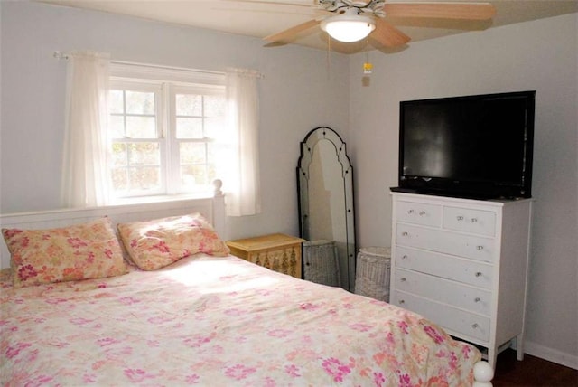
POLYGON ((62 162, 65 207, 107 204, 107 53, 70 52, 67 65, 66 121, 62 162))

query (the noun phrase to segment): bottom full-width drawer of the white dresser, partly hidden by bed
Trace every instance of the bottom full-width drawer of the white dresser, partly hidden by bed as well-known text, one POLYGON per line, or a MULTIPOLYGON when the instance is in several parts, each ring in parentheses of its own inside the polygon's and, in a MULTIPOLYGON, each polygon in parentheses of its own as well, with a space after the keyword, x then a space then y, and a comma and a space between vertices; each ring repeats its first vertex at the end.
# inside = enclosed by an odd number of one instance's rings
MULTIPOLYGON (((391 303, 414 311, 458 335, 469 336, 486 342, 489 340, 489 317, 476 315, 397 290, 391 294, 391 303)), ((467 339, 467 337, 465 338, 467 339)))

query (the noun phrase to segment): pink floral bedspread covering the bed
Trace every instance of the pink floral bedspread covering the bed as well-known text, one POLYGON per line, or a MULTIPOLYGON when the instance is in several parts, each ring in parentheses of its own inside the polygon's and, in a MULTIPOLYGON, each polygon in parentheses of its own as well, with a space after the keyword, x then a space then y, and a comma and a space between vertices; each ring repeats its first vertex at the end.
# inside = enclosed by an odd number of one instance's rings
POLYGON ((463 386, 480 360, 413 313, 230 256, 0 279, 3 386, 463 386))

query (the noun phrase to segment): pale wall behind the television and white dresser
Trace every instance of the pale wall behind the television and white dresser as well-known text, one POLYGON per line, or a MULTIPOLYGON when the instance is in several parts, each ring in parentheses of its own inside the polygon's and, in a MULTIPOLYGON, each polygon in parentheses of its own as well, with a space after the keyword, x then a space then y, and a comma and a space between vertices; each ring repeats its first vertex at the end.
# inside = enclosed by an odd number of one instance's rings
POLYGON ((536 90, 536 199, 527 353, 578 368, 578 14, 411 43, 350 58, 350 143, 359 246, 388 246, 399 101, 536 90))

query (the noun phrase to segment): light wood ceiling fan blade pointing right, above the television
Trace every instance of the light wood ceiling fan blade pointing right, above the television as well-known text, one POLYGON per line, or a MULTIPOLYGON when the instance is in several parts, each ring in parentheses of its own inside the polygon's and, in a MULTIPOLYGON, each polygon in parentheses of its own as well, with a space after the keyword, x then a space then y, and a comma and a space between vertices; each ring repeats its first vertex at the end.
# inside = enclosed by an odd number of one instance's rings
POLYGON ((386 3, 383 10, 392 17, 468 20, 491 19, 496 14, 496 8, 489 3, 386 3))

